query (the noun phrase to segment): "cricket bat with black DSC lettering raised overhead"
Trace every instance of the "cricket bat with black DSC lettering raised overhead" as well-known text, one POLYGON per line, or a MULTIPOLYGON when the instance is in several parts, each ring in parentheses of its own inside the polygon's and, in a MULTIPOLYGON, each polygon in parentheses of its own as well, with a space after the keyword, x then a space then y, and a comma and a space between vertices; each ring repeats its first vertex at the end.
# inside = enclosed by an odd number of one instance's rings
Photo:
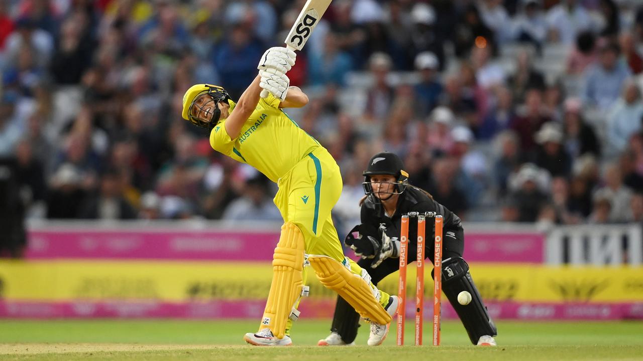
MULTIPOLYGON (((323 13, 331 4, 331 0, 307 0, 302 12, 293 24, 288 36, 285 37, 285 46, 291 50, 301 50, 311 36, 312 30, 320 22, 323 13)), ((261 97, 266 98, 268 91, 261 91, 261 97)))

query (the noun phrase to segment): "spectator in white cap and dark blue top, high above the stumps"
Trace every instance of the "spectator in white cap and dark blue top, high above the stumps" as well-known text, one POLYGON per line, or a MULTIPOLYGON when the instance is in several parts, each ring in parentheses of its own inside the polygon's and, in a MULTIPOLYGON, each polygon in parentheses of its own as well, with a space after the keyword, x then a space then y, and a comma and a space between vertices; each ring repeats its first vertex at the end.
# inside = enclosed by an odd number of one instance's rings
POLYGON ((442 96, 442 84, 437 72, 440 62, 430 51, 415 57, 415 69, 420 72, 420 81, 415 85, 415 115, 425 118, 435 108, 442 96))

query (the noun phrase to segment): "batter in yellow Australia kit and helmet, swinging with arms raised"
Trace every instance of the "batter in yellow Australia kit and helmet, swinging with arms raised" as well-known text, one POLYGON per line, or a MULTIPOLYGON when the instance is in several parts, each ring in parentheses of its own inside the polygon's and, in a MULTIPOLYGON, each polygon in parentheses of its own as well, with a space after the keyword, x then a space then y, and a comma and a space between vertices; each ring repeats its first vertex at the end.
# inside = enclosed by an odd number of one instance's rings
MULTIPOLYGON (((257 346, 288 346, 291 321, 310 264, 320 282, 337 292, 361 317, 371 322, 368 344, 377 346, 388 332, 397 296, 381 292, 366 270, 343 254, 331 220, 340 197, 340 168, 331 154, 300 128, 284 108, 303 107, 308 97, 289 87, 285 75, 295 61, 287 48, 270 48, 259 74, 235 103, 222 87, 197 84, 185 92, 183 118, 210 129, 212 148, 250 164, 278 184, 275 205, 284 225, 273 256, 273 281, 257 333, 244 340, 257 346), (261 98, 262 90, 269 92, 261 98)), ((251 217, 251 215, 249 215, 251 217)))

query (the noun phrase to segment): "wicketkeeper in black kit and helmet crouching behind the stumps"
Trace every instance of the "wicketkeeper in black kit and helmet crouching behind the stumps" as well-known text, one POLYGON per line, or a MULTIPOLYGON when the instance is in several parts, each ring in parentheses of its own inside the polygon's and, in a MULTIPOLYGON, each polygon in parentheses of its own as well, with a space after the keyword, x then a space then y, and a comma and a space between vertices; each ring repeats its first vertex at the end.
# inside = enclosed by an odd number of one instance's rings
MULTIPOLYGON (((464 230, 455 213, 446 209, 426 191, 408 184, 401 159, 388 152, 374 155, 365 176, 366 197, 361 201, 361 224, 350 231, 345 243, 355 254, 361 256, 359 267, 368 270, 372 282, 377 285, 384 277, 399 270, 399 236, 402 215, 409 212, 437 212, 444 216, 442 251, 442 292, 455 308, 460 321, 469 334, 471 343, 480 346, 496 346, 496 326, 482 302, 480 292, 473 283, 462 252, 464 230), (458 303, 458 294, 467 291, 471 303, 458 303)), ((409 222, 408 249, 417 249, 417 222, 409 222)), ((433 227, 433 224, 431 224, 433 227)), ((427 225, 427 234, 433 229, 427 225)), ((432 237, 431 237, 432 238, 432 237)), ((427 236, 425 254, 433 261, 433 242, 427 236)), ((415 252, 407 252, 407 264, 415 261, 415 252), (409 256, 410 255, 410 256, 409 256)), ((358 333, 359 315, 341 297, 337 299, 332 319, 331 335, 319 341, 320 346, 354 344, 358 333)))

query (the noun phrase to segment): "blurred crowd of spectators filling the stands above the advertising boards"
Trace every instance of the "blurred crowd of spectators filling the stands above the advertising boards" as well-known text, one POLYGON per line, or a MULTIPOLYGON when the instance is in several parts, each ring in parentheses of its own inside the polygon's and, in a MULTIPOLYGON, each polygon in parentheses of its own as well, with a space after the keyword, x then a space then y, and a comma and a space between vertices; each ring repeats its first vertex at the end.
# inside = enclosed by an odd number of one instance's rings
MULTIPOLYGON (((237 98, 303 3, 0 1, 0 197, 29 218, 279 220, 275 185, 181 101, 237 98)), ((642 39, 635 0, 334 0, 289 113, 341 166, 339 229, 381 150, 464 220, 641 222, 642 39)))

